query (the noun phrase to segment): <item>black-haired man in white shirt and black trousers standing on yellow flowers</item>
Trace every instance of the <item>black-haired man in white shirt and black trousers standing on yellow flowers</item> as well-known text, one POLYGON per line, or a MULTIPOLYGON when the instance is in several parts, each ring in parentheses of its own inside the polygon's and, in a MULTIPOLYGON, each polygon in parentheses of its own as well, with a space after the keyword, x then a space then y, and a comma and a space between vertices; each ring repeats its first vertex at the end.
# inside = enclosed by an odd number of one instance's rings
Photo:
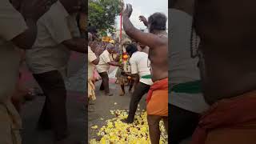
POLYGON ((142 96, 150 90, 153 84, 150 73, 150 60, 148 54, 138 51, 137 46, 130 44, 126 47, 126 52, 130 55, 131 74, 126 75, 132 78, 139 78, 138 84, 135 86, 134 93, 130 100, 129 115, 125 122, 134 122, 134 115, 137 110, 138 102, 142 96))

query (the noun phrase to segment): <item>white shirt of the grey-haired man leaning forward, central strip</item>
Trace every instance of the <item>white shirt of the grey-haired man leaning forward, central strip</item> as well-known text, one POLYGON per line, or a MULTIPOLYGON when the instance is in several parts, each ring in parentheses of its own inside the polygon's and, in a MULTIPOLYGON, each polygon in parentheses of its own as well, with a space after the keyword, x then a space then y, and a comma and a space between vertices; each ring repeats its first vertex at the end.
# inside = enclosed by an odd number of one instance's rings
POLYGON ((98 73, 108 72, 108 70, 110 70, 110 65, 108 62, 111 62, 110 53, 108 50, 104 50, 103 53, 99 56, 99 62, 96 66, 98 73))

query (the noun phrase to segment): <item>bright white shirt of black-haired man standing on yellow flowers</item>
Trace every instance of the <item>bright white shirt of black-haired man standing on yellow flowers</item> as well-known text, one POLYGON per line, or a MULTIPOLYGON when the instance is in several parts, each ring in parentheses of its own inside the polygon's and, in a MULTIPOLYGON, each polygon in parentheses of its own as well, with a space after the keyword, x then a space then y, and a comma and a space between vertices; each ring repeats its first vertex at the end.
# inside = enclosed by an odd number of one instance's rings
POLYGON ((150 60, 148 54, 137 51, 130 58, 130 68, 131 74, 138 74, 140 79, 139 82, 142 82, 146 85, 152 85, 153 82, 151 79, 142 78, 142 76, 150 75, 150 60))

